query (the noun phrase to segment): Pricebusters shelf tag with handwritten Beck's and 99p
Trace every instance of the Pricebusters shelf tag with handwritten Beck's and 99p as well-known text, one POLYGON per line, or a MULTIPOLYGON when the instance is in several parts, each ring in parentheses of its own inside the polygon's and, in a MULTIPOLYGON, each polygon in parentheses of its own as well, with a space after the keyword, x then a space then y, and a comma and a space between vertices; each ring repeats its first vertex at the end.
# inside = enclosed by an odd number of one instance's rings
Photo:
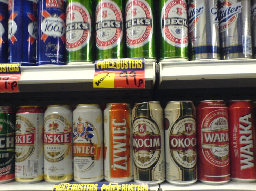
POLYGON ((101 59, 94 69, 94 88, 145 88, 145 59, 101 59))

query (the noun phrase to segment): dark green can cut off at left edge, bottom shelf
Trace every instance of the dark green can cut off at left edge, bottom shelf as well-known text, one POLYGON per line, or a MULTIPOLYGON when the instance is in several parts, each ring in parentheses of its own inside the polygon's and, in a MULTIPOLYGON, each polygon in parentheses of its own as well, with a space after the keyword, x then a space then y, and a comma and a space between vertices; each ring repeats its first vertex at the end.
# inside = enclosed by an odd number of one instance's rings
POLYGON ((0 107, 0 184, 14 180, 15 108, 0 107))

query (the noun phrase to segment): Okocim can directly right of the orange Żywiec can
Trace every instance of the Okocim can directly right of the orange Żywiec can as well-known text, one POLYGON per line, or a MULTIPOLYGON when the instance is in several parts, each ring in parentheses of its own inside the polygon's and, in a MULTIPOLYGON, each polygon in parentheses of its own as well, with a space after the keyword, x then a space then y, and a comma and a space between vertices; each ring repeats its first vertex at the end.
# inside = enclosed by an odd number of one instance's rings
POLYGON ((163 109, 158 101, 136 103, 132 110, 134 181, 157 185, 165 180, 163 109))

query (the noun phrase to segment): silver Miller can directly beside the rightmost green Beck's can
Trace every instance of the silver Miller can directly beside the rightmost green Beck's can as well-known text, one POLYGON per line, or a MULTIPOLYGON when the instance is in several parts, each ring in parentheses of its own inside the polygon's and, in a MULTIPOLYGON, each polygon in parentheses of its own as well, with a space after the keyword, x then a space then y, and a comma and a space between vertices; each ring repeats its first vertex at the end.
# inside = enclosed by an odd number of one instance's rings
POLYGON ((217 0, 189 1, 190 60, 220 60, 218 12, 217 0))

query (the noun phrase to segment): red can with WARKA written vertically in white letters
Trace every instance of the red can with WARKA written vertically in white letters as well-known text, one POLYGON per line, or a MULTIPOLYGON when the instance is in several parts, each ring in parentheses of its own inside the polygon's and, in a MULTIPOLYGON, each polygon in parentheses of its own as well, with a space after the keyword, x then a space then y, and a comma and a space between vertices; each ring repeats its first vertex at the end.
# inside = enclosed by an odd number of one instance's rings
POLYGON ((230 179, 256 181, 255 112, 251 100, 228 101, 230 179))

